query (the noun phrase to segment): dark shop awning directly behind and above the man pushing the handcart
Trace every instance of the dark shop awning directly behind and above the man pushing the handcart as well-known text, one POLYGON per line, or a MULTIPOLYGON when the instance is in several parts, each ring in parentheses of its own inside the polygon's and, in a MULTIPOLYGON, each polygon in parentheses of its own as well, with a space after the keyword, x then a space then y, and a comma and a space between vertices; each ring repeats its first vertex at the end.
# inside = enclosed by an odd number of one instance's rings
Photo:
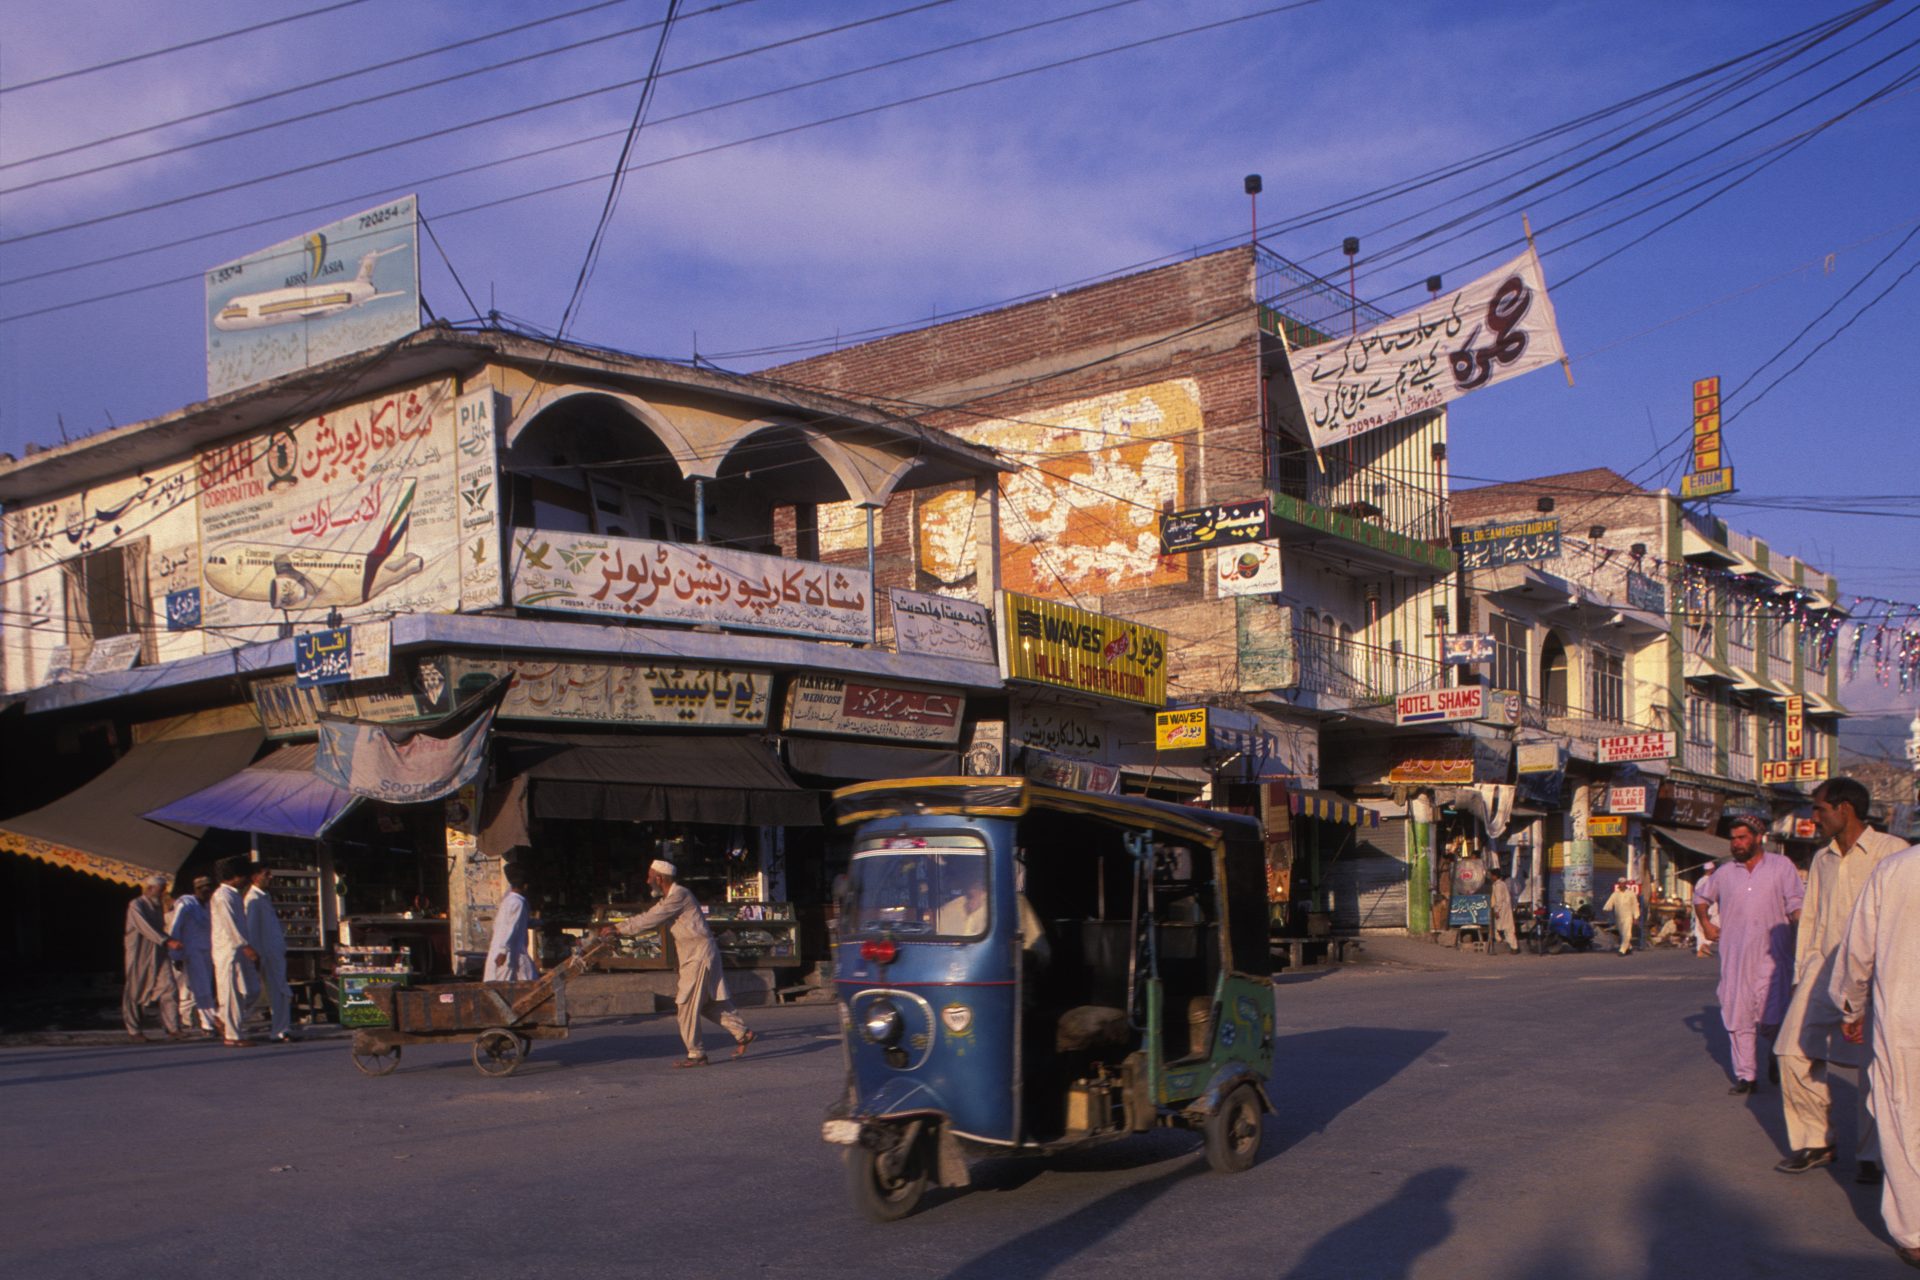
POLYGON ((758 739, 515 733, 493 741, 499 775, 528 779, 534 818, 820 825, 820 794, 803 791, 758 739))

